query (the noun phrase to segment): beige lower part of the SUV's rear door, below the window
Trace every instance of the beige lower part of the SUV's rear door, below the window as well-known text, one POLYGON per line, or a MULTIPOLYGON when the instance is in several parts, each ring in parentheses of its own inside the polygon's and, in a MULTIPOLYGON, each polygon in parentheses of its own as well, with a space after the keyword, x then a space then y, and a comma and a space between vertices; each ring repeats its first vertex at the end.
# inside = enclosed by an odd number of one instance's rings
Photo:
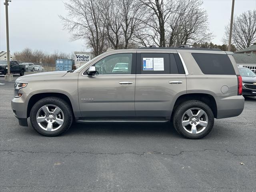
POLYGON ((186 76, 137 75, 135 111, 138 117, 170 117, 176 94, 186 94, 186 76), (169 83, 179 81, 182 83, 169 83))

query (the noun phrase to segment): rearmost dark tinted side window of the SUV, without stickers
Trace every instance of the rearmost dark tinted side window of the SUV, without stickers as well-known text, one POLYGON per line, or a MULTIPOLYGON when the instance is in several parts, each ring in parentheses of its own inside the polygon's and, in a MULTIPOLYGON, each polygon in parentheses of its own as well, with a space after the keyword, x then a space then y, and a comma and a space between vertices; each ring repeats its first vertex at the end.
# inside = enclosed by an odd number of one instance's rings
POLYGON ((226 54, 192 53, 204 74, 235 75, 234 67, 226 54))

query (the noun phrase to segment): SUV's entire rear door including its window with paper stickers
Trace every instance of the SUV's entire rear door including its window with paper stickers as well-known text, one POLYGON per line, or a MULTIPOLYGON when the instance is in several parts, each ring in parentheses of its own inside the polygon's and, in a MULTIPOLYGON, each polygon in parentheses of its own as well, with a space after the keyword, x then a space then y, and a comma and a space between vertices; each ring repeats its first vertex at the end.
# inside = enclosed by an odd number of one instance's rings
POLYGON ((136 116, 170 117, 177 96, 182 94, 186 94, 186 75, 177 52, 137 53, 136 116), (147 59, 152 61, 151 70, 144 69, 147 59), (159 64, 162 65, 161 68, 159 64))

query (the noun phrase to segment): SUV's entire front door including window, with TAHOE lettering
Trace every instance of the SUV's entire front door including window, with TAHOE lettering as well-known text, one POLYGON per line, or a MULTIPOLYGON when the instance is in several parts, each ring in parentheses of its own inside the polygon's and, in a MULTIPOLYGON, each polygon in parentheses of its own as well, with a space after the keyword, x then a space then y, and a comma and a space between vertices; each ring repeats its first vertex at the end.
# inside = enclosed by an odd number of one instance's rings
POLYGON ((83 117, 135 116, 136 54, 109 54, 92 66, 96 74, 87 71, 78 78, 78 98, 83 117))

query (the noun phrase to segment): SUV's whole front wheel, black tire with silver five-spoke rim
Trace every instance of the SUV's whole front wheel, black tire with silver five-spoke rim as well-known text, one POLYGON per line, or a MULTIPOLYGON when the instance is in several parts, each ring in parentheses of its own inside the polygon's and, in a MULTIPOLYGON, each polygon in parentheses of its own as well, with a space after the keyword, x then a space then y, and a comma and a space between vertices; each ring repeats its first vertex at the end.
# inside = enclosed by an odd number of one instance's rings
POLYGON ((58 136, 66 132, 72 125, 72 109, 66 101, 60 98, 43 98, 32 107, 30 122, 39 134, 58 136))

